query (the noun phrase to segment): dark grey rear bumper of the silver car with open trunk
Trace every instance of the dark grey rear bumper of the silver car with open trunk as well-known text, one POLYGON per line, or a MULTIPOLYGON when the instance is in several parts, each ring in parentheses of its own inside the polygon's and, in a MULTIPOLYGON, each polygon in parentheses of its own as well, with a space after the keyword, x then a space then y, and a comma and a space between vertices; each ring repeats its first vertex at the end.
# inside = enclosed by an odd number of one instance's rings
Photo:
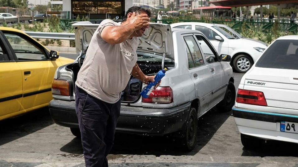
MULTIPOLYGON (((190 102, 173 108, 142 108, 121 105, 116 131, 140 135, 164 135, 182 130, 189 116, 190 102)), ((53 121, 78 128, 75 101, 54 99, 49 103, 53 121)))

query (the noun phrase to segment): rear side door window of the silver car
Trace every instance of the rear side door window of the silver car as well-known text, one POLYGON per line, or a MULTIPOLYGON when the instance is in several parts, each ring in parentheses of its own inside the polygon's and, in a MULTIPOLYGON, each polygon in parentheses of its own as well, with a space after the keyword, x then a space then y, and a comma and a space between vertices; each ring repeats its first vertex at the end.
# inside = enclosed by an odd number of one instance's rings
POLYGON ((189 69, 204 65, 204 60, 198 44, 193 36, 184 37, 189 69))

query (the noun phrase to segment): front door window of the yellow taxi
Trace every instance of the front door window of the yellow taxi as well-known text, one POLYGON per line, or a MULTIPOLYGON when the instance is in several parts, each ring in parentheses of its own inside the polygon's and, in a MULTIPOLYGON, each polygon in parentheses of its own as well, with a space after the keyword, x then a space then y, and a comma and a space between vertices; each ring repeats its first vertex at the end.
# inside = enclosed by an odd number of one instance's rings
POLYGON ((46 59, 44 51, 36 47, 25 36, 17 33, 3 31, 9 44, 12 46, 18 60, 42 60, 46 59))

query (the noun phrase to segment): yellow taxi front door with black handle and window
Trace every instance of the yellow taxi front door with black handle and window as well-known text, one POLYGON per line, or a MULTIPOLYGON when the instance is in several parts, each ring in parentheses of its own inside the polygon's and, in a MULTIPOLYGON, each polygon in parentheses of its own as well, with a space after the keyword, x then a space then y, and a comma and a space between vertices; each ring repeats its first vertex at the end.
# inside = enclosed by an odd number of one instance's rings
POLYGON ((21 110, 47 106, 52 99, 54 72, 60 61, 50 60, 49 52, 38 42, 18 32, 3 32, 21 68, 23 100, 21 110))

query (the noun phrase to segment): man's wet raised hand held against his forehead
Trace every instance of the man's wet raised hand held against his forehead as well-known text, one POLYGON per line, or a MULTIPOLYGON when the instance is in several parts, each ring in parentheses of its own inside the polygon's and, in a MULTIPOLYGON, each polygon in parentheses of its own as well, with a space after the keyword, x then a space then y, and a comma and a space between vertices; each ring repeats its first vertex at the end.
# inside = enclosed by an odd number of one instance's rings
POLYGON ((148 26, 150 24, 150 18, 147 14, 136 15, 136 13, 133 12, 133 14, 131 14, 129 17, 129 24, 133 25, 135 30, 139 30, 142 27, 148 26))

